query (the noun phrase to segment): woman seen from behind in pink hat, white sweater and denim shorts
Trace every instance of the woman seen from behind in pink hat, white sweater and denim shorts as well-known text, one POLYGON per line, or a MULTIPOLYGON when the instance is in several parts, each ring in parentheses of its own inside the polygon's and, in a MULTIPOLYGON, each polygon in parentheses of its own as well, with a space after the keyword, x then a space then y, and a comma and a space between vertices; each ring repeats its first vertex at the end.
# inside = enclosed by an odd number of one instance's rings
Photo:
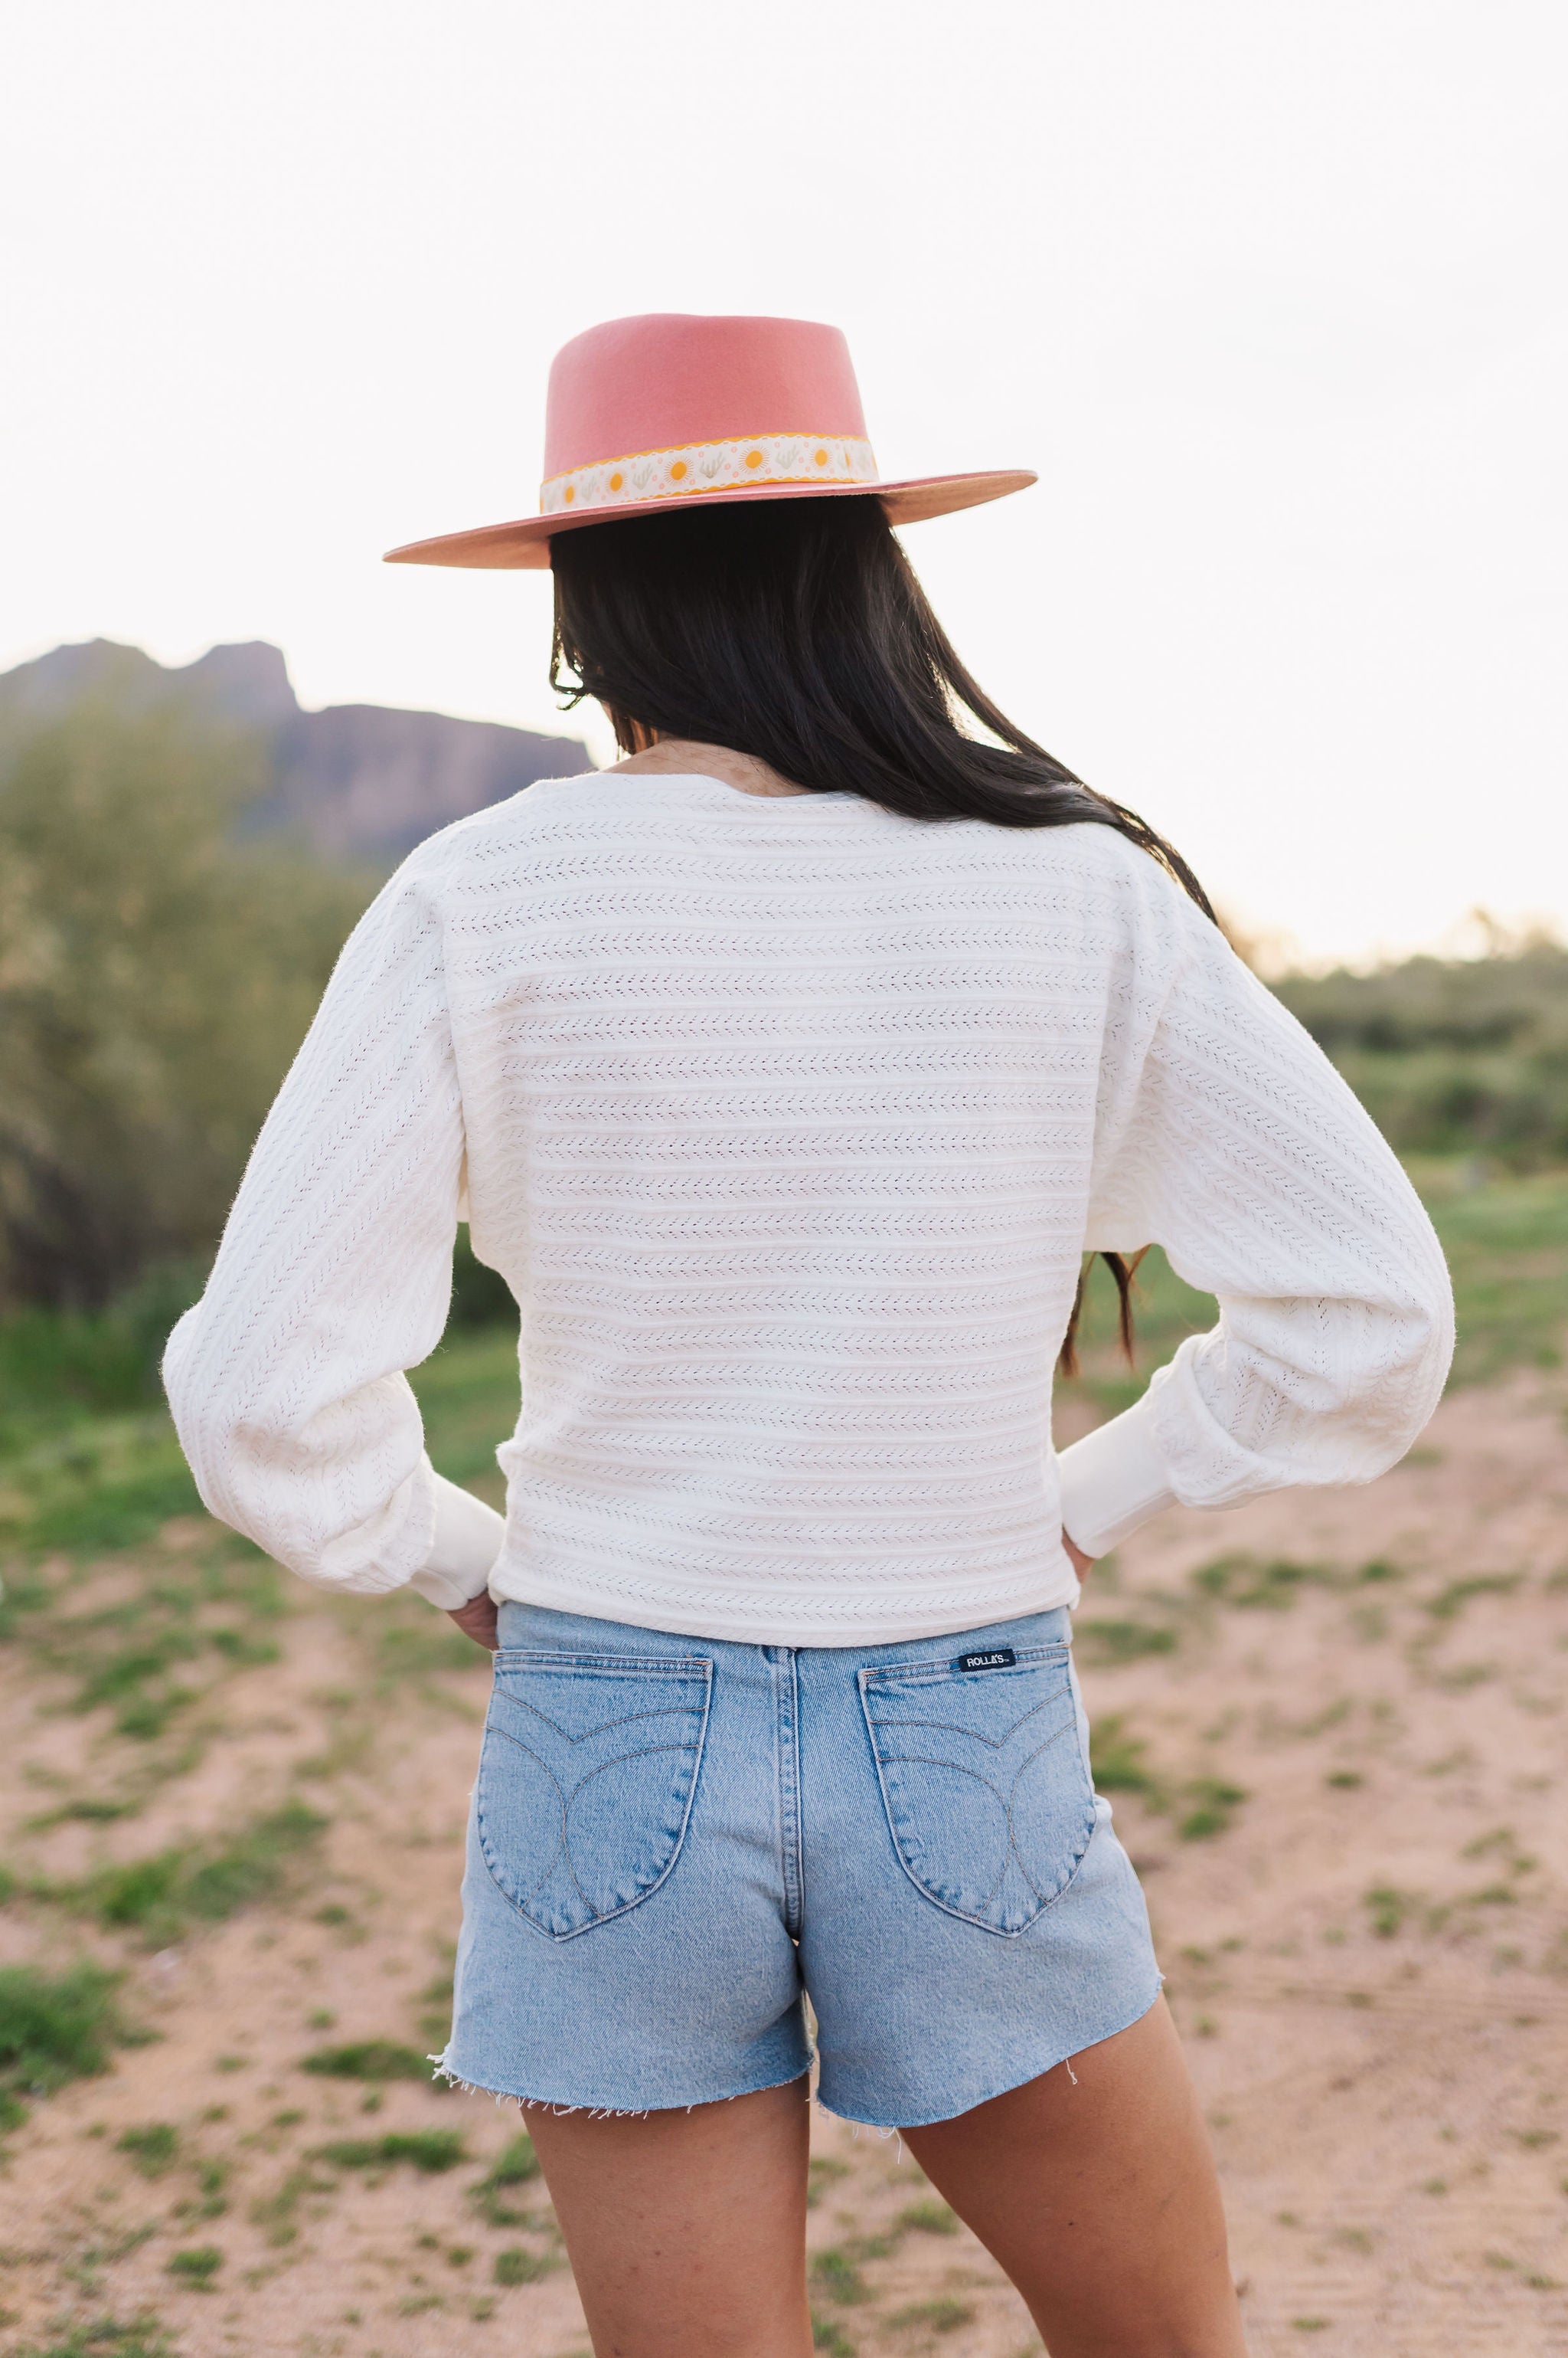
POLYGON ((441 2068, 528 2108, 620 2358, 811 2349, 804 1995, 1054 2358, 1243 2349, 1068 1613, 1172 1500, 1391 1464, 1450 1299, 1177 854, 938 630, 891 523, 1028 481, 882 483, 828 328, 566 347, 540 516, 394 554, 552 564, 627 757, 387 884, 170 1344, 215 1514, 500 1648, 441 2068), (465 1217, 505 1521, 403 1377, 465 1217), (1219 1325, 1054 1457, 1082 1257, 1148 1243, 1219 1325))

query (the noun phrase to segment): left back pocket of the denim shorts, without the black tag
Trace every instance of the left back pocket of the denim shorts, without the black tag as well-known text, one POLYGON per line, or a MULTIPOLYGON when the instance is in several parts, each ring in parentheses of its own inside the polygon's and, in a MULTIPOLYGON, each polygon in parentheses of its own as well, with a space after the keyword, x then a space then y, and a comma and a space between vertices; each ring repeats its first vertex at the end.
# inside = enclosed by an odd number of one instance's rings
POLYGON ((712 1662, 495 1655, 479 1754, 479 1846, 552 1941, 637 1908, 679 1858, 707 1733, 712 1662))

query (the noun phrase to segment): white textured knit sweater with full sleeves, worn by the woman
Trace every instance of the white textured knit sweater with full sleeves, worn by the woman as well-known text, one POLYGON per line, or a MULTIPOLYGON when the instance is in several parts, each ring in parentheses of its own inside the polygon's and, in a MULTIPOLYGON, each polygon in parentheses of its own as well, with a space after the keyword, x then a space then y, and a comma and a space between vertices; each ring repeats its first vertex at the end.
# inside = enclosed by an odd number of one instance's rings
POLYGON ((608 773, 380 894, 165 1372, 323 1587, 851 1646, 1073 1603, 1063 1521, 1370 1481, 1450 1335, 1386 1144, 1125 837, 608 773), (403 1375, 462 1217, 521 1304, 505 1521, 403 1375), (1056 1460, 1080 1257, 1151 1240, 1219 1325, 1056 1460))

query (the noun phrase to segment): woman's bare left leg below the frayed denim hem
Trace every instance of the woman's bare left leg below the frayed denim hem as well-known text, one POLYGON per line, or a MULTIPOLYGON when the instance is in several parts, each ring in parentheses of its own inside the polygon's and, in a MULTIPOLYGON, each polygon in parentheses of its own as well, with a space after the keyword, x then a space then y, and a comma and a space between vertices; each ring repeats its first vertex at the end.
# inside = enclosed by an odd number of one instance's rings
POLYGON ((806 2082, 691 2113, 528 2110, 599 2358, 809 2358, 806 2082))

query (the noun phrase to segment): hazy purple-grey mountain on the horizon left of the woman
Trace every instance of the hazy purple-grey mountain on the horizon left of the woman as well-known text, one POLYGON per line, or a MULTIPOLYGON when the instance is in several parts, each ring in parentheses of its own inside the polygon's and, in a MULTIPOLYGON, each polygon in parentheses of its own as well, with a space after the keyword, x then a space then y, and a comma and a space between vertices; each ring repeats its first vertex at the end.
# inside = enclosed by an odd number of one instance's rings
POLYGON ((391 865, 453 818, 505 802, 535 778, 575 778, 594 766, 578 738, 500 722, 391 705, 302 712, 281 651, 262 639, 212 646, 179 667, 153 663, 139 646, 90 639, 0 672, 7 722, 57 719, 87 698, 127 712, 182 700, 257 731, 271 788, 245 811, 245 832, 304 837, 337 861, 391 865))

